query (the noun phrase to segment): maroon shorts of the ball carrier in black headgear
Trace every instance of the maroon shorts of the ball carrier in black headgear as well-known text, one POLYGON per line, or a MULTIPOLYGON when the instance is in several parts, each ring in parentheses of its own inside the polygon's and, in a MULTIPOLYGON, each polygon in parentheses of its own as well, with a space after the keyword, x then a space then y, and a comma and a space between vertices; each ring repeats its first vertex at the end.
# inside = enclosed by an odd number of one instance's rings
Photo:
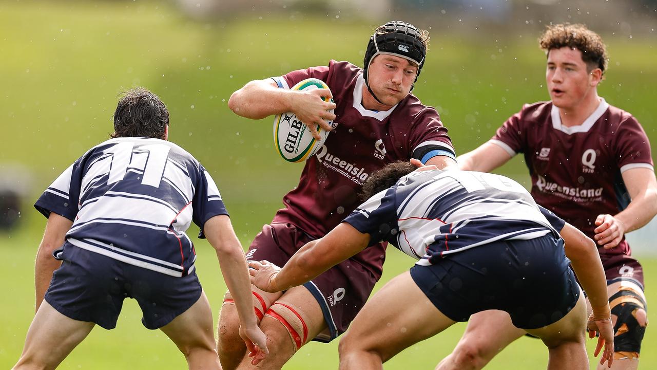
MULTIPOLYGON (((265 259, 283 267, 294 252, 314 239, 304 230, 289 223, 264 225, 251 243, 246 259, 265 259)), ((367 253, 367 250, 364 252, 367 253)), ((376 277, 352 257, 304 284, 317 300, 328 325, 328 329, 319 333, 313 340, 330 342, 347 330, 379 278, 380 276, 376 277)))

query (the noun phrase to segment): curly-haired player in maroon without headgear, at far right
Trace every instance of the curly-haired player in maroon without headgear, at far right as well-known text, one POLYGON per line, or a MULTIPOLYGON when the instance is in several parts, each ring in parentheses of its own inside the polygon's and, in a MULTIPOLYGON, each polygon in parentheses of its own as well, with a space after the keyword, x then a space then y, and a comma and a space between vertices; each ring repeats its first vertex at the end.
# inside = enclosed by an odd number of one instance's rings
MULTIPOLYGON (((597 242, 616 332, 613 369, 637 369, 648 319, 643 269, 625 232, 657 213, 650 144, 637 119, 597 93, 608 62, 598 34, 557 24, 540 44, 551 101, 525 105, 486 144, 461 155, 459 167, 492 171, 524 153, 537 203, 597 242)), ((522 334, 507 313, 474 315, 437 369, 480 369, 522 334)))

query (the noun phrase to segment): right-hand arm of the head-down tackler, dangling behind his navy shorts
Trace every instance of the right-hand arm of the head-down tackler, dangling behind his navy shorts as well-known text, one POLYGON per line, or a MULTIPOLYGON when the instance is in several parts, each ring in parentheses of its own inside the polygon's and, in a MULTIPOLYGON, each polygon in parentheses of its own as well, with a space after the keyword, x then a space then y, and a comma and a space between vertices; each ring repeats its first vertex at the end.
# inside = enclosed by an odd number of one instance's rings
POLYGON ((598 356, 604 345, 604 353, 600 357, 600 363, 608 361, 609 367, 611 367, 614 359, 614 326, 611 320, 612 314, 607 298, 606 278, 604 277, 602 262, 600 262, 600 255, 593 240, 574 226, 566 223, 560 234, 566 242, 564 246, 566 257, 570 259, 573 270, 577 274, 593 309, 587 323, 589 336, 593 338, 595 332, 600 333, 594 355, 598 356))

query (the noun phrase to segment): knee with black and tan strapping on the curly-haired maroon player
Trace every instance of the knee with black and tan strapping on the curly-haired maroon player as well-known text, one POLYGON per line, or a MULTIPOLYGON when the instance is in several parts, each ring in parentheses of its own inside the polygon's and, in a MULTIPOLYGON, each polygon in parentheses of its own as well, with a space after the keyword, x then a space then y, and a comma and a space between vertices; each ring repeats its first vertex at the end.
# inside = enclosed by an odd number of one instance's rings
POLYGON ((648 326, 646 302, 631 289, 621 290, 609 298, 614 325, 615 359, 638 359, 641 342, 648 326))

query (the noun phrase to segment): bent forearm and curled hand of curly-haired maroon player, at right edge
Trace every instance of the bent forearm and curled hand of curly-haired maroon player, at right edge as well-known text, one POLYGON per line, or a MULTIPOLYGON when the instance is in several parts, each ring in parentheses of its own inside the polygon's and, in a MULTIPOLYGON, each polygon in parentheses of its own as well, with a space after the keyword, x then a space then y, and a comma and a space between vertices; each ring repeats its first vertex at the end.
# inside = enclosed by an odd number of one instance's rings
POLYGON ((598 215, 595 241, 604 249, 618 246, 626 232, 637 230, 657 214, 657 180, 650 169, 637 168, 623 172, 623 182, 632 201, 616 215, 598 215))

